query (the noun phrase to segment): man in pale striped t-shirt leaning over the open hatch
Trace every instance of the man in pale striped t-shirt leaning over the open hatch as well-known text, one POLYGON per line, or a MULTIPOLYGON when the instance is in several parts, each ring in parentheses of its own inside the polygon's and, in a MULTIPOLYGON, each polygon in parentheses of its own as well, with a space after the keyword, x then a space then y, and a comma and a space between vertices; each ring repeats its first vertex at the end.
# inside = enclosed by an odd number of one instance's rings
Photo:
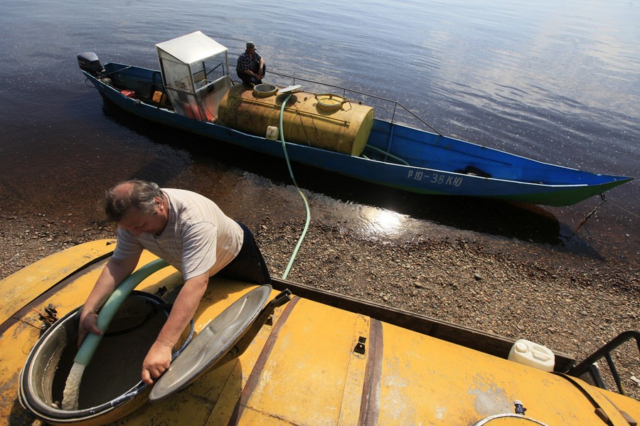
POLYGON ((207 288, 221 275, 257 284, 271 282, 250 230, 198 193, 125 181, 105 194, 107 219, 117 222, 117 245, 80 311, 78 345, 87 333, 101 335, 97 314, 127 278, 146 249, 166 260, 185 280, 156 341, 142 363, 142 380, 153 383, 169 368, 171 350, 207 288))

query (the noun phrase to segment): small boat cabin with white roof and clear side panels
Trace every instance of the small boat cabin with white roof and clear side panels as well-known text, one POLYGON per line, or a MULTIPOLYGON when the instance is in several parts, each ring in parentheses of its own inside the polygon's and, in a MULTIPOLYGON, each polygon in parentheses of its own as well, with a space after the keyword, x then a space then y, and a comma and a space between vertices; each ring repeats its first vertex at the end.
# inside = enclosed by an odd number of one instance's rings
POLYGON ((176 112, 213 121, 231 87, 227 48, 201 31, 156 44, 164 88, 176 112))

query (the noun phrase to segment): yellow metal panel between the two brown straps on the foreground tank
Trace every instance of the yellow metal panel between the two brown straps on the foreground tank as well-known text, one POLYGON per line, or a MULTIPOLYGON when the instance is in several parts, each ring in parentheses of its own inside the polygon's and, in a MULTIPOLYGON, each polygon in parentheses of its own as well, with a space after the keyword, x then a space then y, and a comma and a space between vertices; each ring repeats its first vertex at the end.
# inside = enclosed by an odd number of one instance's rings
POLYGON ((348 406, 341 406, 345 388, 353 390, 347 371, 361 374, 361 368, 350 368, 356 316, 300 299, 260 372, 241 424, 279 419, 293 425, 336 425, 342 410, 359 412, 359 398, 348 397, 348 406))

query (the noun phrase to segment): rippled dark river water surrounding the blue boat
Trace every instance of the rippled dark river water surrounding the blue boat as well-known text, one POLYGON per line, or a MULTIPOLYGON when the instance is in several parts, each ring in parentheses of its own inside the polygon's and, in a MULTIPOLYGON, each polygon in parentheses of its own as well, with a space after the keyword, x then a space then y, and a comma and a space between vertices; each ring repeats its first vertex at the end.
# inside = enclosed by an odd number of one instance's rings
MULTIPOLYGON (((270 70, 398 100, 450 136, 640 175, 636 1, 4 0, 0 10, 0 216, 68 216, 83 227, 101 217, 105 188, 138 177, 205 193, 249 224, 304 220, 284 161, 139 122, 88 87, 75 58, 90 50, 102 63, 157 68, 155 43, 197 30, 227 46, 231 63, 250 39, 270 70)), ((600 198, 519 206, 294 172, 312 220, 364 238, 468 235, 577 264, 638 266, 638 181, 609 191, 570 238, 600 198)))

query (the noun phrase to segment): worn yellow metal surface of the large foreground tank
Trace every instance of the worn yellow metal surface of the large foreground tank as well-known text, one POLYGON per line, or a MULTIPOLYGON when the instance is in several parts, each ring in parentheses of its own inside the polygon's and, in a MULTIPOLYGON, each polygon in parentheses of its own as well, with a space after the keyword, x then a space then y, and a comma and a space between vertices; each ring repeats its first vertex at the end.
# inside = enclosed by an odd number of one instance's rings
MULTIPOLYGON (((145 252, 140 265, 154 259, 145 252)), ((94 267, 78 274, 38 309, 52 303, 60 316, 75 309, 99 272, 94 267)), ((169 267, 139 289, 152 293, 166 286, 171 301, 181 284, 181 275, 169 267)), ((213 279, 196 312, 196 331, 254 287, 213 279)), ((36 312, 23 311, 0 336, 0 425, 33 420, 18 403, 17 382, 40 324, 36 312)), ((523 402, 528 417, 547 425, 605 425, 594 404, 612 425, 628 425, 619 410, 640 419, 639 401, 577 378, 294 297, 276 310, 272 324, 262 326, 239 358, 159 403, 142 401, 127 417, 118 420, 124 415, 120 412, 102 420, 119 425, 474 425, 491 415, 513 413, 514 400, 523 402)), ((489 422, 529 424, 513 417, 489 422)))

